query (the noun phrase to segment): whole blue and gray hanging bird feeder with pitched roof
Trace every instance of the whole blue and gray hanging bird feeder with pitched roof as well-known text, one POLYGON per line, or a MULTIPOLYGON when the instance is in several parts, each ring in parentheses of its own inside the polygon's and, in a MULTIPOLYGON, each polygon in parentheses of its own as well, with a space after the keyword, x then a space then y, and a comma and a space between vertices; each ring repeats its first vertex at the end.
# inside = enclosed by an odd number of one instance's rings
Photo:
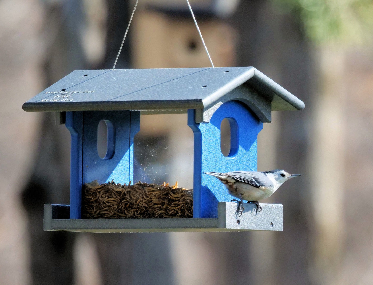
POLYGON ((254 67, 75 70, 23 104, 53 111, 71 133, 70 205, 44 205, 44 229, 91 232, 282 230, 282 205, 237 204, 203 172, 257 170, 257 135, 272 111, 304 103, 254 67), (188 113, 194 133, 193 218, 82 219, 82 187, 134 175, 140 114, 188 113), (220 125, 230 124, 230 150, 220 149, 220 125), (107 152, 97 152, 97 126, 107 126, 107 152))

